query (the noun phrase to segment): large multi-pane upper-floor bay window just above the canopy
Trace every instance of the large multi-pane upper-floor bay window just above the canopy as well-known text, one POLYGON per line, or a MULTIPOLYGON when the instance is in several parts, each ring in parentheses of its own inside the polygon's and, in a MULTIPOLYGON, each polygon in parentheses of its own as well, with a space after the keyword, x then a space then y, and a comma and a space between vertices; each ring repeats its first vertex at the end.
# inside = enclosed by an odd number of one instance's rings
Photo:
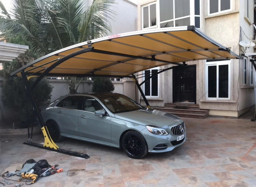
POLYGON ((201 27, 201 0, 157 0, 142 6, 142 29, 195 25, 201 27))

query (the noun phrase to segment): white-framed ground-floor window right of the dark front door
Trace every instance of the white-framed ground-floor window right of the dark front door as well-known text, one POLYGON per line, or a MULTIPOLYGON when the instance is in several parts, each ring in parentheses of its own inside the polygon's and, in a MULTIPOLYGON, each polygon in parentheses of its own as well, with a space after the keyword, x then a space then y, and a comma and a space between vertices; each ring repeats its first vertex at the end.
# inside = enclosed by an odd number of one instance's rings
POLYGON ((230 99, 230 60, 206 62, 206 99, 230 99))

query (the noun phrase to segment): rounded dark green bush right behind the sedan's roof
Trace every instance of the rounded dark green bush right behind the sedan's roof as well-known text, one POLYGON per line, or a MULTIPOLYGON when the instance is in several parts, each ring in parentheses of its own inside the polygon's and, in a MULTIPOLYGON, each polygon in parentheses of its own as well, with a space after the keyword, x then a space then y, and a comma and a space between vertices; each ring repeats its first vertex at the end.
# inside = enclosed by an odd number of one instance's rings
POLYGON ((92 92, 95 93, 110 93, 114 91, 115 86, 113 85, 110 78, 95 78, 92 85, 92 92))

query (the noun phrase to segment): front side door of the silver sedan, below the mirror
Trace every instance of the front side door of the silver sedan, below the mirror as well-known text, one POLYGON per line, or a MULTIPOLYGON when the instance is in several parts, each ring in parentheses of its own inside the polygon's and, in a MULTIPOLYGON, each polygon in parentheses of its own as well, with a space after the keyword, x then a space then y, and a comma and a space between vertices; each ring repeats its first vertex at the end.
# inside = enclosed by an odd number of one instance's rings
POLYGON ((104 110, 95 98, 85 96, 79 111, 79 135, 85 138, 111 143, 111 117, 95 116, 96 110, 104 110))

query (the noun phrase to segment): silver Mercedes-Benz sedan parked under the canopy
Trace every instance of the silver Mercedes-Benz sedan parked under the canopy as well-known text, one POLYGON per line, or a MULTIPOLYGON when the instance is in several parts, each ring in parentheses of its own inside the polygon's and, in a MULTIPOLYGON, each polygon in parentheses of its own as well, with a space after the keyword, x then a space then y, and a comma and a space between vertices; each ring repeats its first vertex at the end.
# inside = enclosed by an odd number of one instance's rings
POLYGON ((171 151, 186 140, 180 118, 119 93, 66 95, 41 108, 41 114, 54 142, 69 137, 99 143, 122 148, 134 159, 171 151))

